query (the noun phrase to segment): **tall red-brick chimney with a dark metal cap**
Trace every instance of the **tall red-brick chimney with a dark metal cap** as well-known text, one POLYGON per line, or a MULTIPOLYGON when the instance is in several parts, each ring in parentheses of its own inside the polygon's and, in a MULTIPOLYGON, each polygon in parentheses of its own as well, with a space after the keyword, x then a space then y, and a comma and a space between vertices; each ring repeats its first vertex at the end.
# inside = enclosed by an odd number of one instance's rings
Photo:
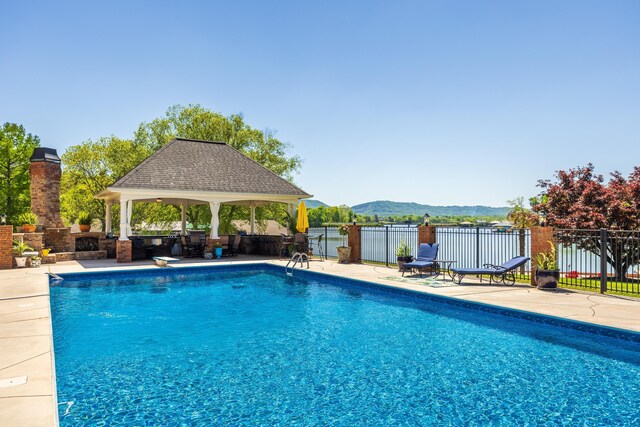
POLYGON ((64 227, 60 217, 62 168, 55 148, 38 147, 31 156, 31 210, 44 228, 64 227))

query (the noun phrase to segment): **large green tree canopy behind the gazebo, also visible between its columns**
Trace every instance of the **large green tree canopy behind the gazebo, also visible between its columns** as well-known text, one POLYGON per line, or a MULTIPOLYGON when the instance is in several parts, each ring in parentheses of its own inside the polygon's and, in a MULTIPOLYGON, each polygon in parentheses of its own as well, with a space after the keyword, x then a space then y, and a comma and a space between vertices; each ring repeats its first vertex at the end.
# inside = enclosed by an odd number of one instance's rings
MULTIPOLYGON (((73 222, 82 211, 89 211, 94 218, 103 218, 104 202, 93 196, 176 137, 226 142, 290 181, 301 164, 299 157, 287 154, 289 146, 278 140, 273 132, 252 128, 240 114, 226 117, 200 105, 175 105, 164 116, 141 123, 131 140, 111 136, 88 140, 67 149, 62 156, 63 218, 73 222)), ((114 211, 112 215, 112 224, 117 227, 118 212, 114 211)), ((249 208, 224 205, 219 216, 220 232, 231 232, 231 221, 248 219, 249 208)), ((142 228, 143 223, 169 227, 170 222, 179 218, 179 210, 175 207, 134 203, 132 224, 138 228, 142 228)), ((286 208, 281 204, 256 208, 257 221, 269 218, 286 223, 286 208)), ((208 206, 187 208, 187 221, 192 226, 206 229, 210 220, 208 206)))

